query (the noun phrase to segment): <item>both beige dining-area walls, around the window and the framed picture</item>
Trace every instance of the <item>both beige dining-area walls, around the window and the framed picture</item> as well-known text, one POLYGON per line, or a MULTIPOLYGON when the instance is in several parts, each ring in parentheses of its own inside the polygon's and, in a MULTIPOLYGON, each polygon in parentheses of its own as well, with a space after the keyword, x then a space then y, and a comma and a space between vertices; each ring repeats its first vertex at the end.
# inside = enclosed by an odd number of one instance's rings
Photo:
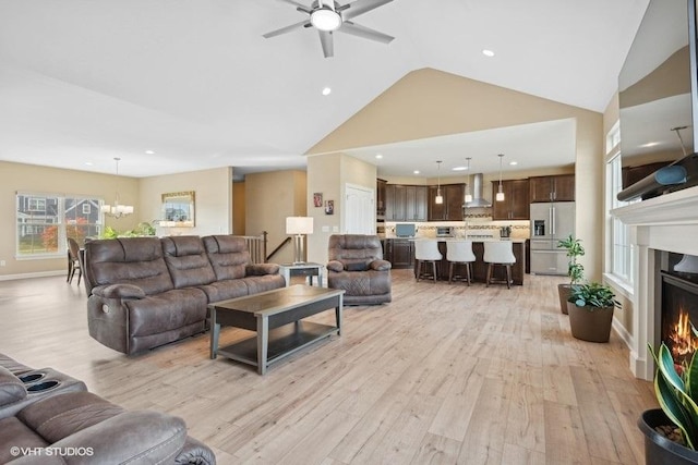
POLYGON ((5 218, 12 219, 0 224, 0 236, 3 237, 0 241, 0 260, 7 262, 5 267, 0 267, 0 278, 59 273, 67 269, 65 258, 62 257, 15 259, 14 211, 17 191, 96 196, 111 203, 118 186, 121 203, 133 205, 135 212, 118 220, 107 217, 106 224, 117 231, 129 231, 141 221, 160 219, 164 193, 194 191, 196 227, 174 231, 158 228, 157 233, 205 235, 231 231, 231 168, 135 179, 0 161, 0 211, 5 213, 5 218))

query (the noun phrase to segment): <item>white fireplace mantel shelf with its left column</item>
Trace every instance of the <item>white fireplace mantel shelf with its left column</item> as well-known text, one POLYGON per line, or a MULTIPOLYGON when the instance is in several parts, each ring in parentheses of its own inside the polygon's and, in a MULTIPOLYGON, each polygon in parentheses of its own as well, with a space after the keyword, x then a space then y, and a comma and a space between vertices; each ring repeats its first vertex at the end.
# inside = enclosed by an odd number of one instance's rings
POLYGON ((655 250, 698 256, 698 186, 616 208, 611 215, 630 227, 635 261, 630 369, 636 377, 651 380, 654 364, 647 344, 659 342, 655 309, 661 308, 655 250))

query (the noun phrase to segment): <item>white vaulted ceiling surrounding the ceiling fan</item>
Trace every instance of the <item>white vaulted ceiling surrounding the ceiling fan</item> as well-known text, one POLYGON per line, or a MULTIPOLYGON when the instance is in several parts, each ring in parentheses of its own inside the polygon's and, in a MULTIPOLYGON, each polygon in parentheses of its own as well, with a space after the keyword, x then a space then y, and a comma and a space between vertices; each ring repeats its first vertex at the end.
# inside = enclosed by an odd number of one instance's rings
POLYGON ((312 28, 262 37, 304 19, 284 1, 0 0, 0 160, 109 173, 120 157, 132 176, 302 168, 424 68, 601 112, 647 3, 394 0, 356 19, 393 42, 337 32, 326 59, 312 28))

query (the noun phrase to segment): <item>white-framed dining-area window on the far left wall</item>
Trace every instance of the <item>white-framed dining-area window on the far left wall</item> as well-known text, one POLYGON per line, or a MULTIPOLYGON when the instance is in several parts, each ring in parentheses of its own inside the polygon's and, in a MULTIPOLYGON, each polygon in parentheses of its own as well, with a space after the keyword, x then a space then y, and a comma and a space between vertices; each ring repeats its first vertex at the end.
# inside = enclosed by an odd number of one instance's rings
POLYGON ((58 194, 16 195, 16 255, 53 257, 65 254, 68 237, 80 244, 101 232, 101 199, 58 194))

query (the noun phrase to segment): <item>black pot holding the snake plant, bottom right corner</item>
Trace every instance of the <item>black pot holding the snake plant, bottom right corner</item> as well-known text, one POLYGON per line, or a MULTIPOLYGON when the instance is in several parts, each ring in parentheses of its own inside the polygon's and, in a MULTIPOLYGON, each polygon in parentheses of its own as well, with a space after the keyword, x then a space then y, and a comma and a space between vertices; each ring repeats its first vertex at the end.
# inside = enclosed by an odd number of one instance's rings
POLYGON ((698 452, 685 448, 654 430, 658 426, 672 425, 661 408, 645 411, 637 426, 645 435, 646 465, 689 465, 698 464, 698 452))

